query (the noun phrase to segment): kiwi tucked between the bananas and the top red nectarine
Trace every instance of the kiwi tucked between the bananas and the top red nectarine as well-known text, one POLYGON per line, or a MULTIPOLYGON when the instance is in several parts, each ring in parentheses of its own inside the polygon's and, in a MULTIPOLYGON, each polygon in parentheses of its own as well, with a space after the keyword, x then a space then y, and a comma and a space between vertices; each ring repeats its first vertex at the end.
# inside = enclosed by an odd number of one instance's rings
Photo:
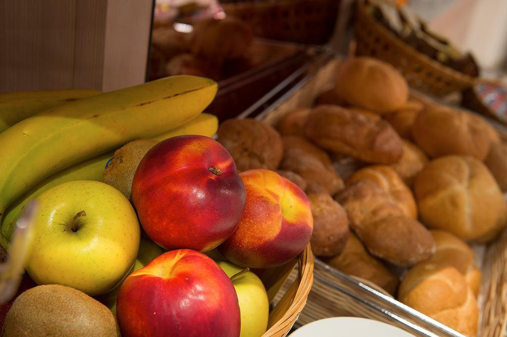
POLYGON ((152 139, 137 139, 116 150, 105 166, 102 182, 113 186, 130 200, 135 170, 142 157, 157 143, 152 139))

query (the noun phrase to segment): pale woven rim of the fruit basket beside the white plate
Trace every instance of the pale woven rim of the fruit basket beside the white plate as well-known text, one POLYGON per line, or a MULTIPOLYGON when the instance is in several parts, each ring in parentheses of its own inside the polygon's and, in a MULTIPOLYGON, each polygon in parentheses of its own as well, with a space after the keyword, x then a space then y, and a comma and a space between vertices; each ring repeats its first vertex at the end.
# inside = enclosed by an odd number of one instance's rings
POLYGON ((286 335, 306 305, 306 300, 313 284, 313 253, 309 243, 298 257, 298 267, 299 285, 294 300, 282 318, 273 324, 262 335, 263 337, 286 335))

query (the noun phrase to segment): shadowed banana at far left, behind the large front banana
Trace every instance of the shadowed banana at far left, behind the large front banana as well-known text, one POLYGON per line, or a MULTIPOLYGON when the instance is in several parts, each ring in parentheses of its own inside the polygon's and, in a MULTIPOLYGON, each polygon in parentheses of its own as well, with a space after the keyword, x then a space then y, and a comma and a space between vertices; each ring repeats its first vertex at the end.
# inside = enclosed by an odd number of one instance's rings
POLYGON ((43 110, 101 94, 98 90, 68 89, 0 94, 0 133, 43 110))

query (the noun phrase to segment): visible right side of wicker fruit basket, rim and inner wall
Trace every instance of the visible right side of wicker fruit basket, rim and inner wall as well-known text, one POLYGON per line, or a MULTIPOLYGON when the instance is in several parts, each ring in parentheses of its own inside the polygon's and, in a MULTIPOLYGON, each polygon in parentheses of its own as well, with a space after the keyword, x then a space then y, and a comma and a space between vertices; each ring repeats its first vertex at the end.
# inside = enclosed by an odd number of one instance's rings
POLYGON ((263 337, 283 337, 303 310, 313 283, 313 254, 308 244, 298 258, 283 266, 262 270, 260 278, 268 292, 268 330, 263 337), (292 276, 289 278, 289 276, 292 276))

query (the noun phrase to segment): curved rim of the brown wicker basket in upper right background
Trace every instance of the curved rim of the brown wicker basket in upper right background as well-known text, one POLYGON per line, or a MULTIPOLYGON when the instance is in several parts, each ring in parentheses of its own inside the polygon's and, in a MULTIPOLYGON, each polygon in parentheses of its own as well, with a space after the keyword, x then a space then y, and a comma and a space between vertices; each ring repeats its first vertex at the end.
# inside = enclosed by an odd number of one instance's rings
MULTIPOLYGON (((396 47, 404 50, 407 54, 412 56, 413 58, 418 59, 421 63, 425 63, 427 66, 436 70, 438 72, 447 73, 449 76, 454 77, 454 79, 459 80, 468 85, 472 85, 473 81, 478 77, 473 77, 467 74, 464 74, 458 70, 455 70, 451 67, 448 67, 436 60, 433 60, 429 56, 420 53, 415 48, 407 45, 404 41, 402 41, 399 37, 396 37, 392 34, 387 28, 381 25, 377 20, 375 20, 371 15, 367 13, 367 5, 366 0, 361 0, 357 2, 357 13, 363 17, 365 21, 368 21, 371 25, 375 27, 381 34, 389 40, 390 43, 396 45, 396 47)), ((357 21, 356 21, 357 24, 357 21)))

